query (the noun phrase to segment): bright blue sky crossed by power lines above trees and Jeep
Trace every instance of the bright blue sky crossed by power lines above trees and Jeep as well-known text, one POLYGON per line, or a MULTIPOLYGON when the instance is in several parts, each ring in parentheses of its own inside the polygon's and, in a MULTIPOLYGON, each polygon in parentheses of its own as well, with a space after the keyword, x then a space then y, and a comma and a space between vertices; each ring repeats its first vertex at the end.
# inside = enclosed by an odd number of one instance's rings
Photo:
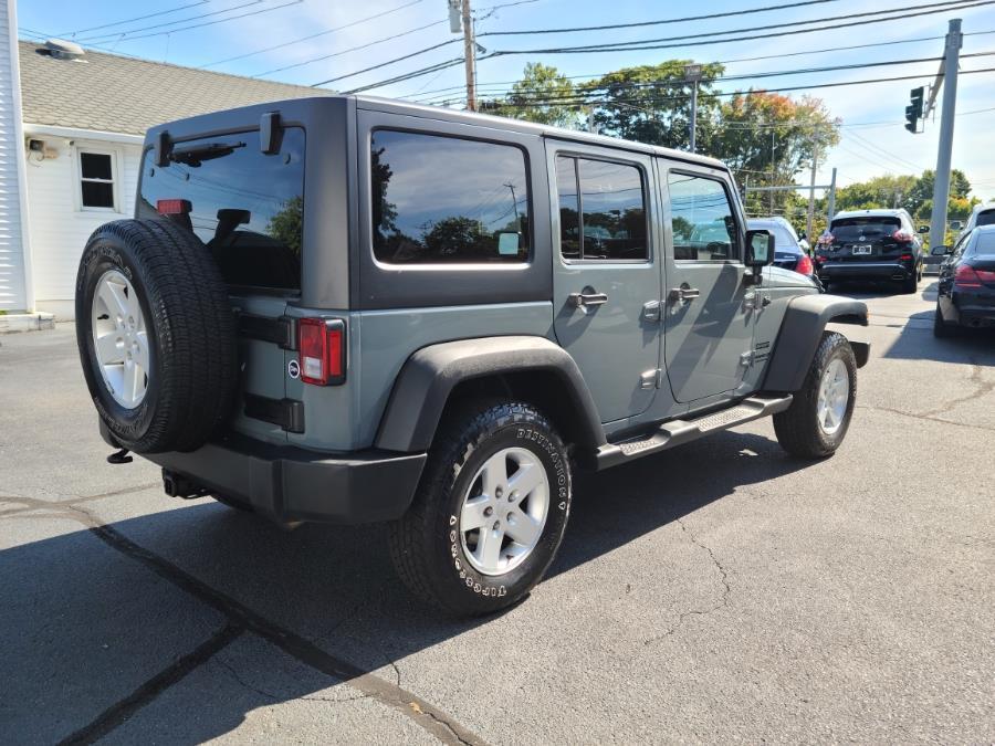
MULTIPOLYGON (((831 0, 803 8, 777 10, 725 19, 667 23, 628 30, 562 33, 527 36, 485 36, 489 31, 527 30, 576 25, 597 25, 743 10, 763 6, 784 4, 785 0, 719 0, 700 3, 639 2, 636 0, 531 0, 504 8, 486 10, 515 0, 474 0, 480 18, 480 43, 488 50, 537 49, 543 46, 583 45, 628 40, 682 36, 747 27, 783 24, 792 21, 842 17, 869 10, 899 9, 909 4, 924 4, 930 0, 888 0, 870 3, 866 0, 831 0)), ((935 1, 935 0, 932 0, 935 1)), ((76 39, 84 45, 98 44, 118 53, 133 54, 157 61, 188 66, 209 65, 209 70, 239 75, 311 85, 339 75, 348 75, 364 67, 418 52, 427 46, 448 42, 442 48, 379 70, 349 76, 329 87, 346 90, 376 83, 459 56, 460 36, 452 34, 446 20, 446 0, 367 0, 366 2, 321 2, 320 0, 149 0, 124 3, 119 0, 21 0, 18 4, 19 25, 44 35, 76 39), (282 6, 282 7, 281 7, 282 6), (260 12, 263 11, 263 12, 260 12), (213 13, 195 19, 192 17, 213 13), (139 15, 155 14, 130 23, 92 29, 139 15), (242 15, 242 18, 234 18, 242 15), (378 15, 373 20, 364 20, 378 15), (190 19, 190 20, 185 20, 190 19), (233 19, 233 20, 223 20, 233 19), (223 22, 186 28, 211 21, 223 22), (171 25, 160 25, 174 22, 171 25), (148 28, 154 27, 154 28, 148 28), (346 27, 346 28, 342 28, 346 27), (428 27, 367 49, 348 51, 354 46, 378 42, 418 27, 428 27), (140 30, 145 29, 145 30, 140 30), (324 33, 333 29, 329 33, 324 33), (73 34, 72 32, 76 32, 73 34), (128 33, 125 33, 128 32, 128 33), (170 33, 165 33, 170 32, 170 33), (320 34, 320 35, 318 35, 320 34), (301 40, 304 36, 312 39, 301 40), (144 38, 139 38, 144 36, 144 38), (280 49, 261 51, 294 42, 280 49), (335 56, 308 62, 323 55, 335 56), (220 62, 230 57, 242 59, 220 62), (217 63, 217 64, 212 64, 217 63), (303 63, 303 64, 302 64, 303 63), (281 72, 270 72, 282 67, 281 72)), ((611 52, 604 54, 530 54, 484 60, 478 71, 482 91, 503 90, 521 76, 526 62, 555 65, 566 75, 598 75, 619 67, 651 64, 667 59, 694 59, 700 62, 733 61, 771 54, 798 53, 776 60, 729 62, 726 73, 742 75, 782 70, 803 70, 831 65, 935 57, 942 54, 942 39, 947 20, 963 19, 966 35, 962 54, 995 51, 995 4, 945 11, 919 18, 872 25, 832 28, 815 33, 793 33, 774 39, 753 39, 735 43, 695 45, 689 41, 678 49, 611 52), (991 33, 977 33, 991 32, 991 33), (828 51, 831 48, 880 42, 898 42, 850 51, 828 51)), ((820 25, 834 25, 832 22, 820 25)), ((760 32, 757 32, 760 33, 760 32)), ((835 166, 841 185, 881 174, 918 174, 933 168, 936 161, 939 119, 928 122, 925 134, 911 135, 903 125, 904 106, 910 88, 928 84, 939 63, 922 62, 903 65, 870 67, 834 73, 802 73, 776 78, 757 80, 756 87, 813 85, 825 82, 859 81, 873 77, 921 75, 913 81, 897 81, 871 85, 815 88, 808 93, 821 97, 834 115, 844 120, 842 140, 827 158, 827 167, 835 166), (867 125, 867 126, 865 126, 867 125)), ((962 72, 995 67, 995 55, 963 59, 962 72)), ((371 93, 387 96, 426 97, 461 95, 462 66, 454 66, 423 77, 378 87, 371 93), (441 91, 440 91, 441 90, 441 91), (436 93, 438 92, 438 93, 436 93)), ((747 87, 750 81, 739 81, 747 87)), ((722 86, 732 90, 732 84, 722 86)), ((957 112, 953 165, 964 170, 975 186, 974 193, 995 199, 995 73, 962 75, 957 112), (977 113, 973 113, 977 112, 977 113)), ((800 178, 800 177, 799 177, 800 178)), ((828 179, 823 170, 819 179, 828 179)))

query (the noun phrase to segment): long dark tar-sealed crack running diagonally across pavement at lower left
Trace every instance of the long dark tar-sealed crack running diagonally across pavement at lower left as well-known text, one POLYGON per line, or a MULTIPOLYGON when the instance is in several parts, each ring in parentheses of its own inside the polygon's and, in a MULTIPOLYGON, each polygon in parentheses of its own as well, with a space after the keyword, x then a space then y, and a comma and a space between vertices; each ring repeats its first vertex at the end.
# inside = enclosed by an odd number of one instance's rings
MULTIPOLYGON (((35 508, 52 507, 52 503, 42 500, 19 497, 18 501, 25 504, 34 503, 35 508)), ((34 514, 33 516, 11 517, 28 518, 42 516, 34 514)), ((423 728, 442 743, 472 744, 474 746, 486 745, 486 742, 483 738, 471 733, 469 729, 451 719, 443 712, 436 708, 434 705, 415 695, 412 692, 379 679, 346 660, 336 658, 306 638, 275 624, 240 601, 237 601, 234 598, 211 588, 202 580, 180 569, 164 557, 136 544, 117 529, 103 523, 86 508, 77 505, 66 505, 63 506, 63 509, 59 513, 50 513, 44 517, 71 518, 81 523, 111 548, 119 551, 129 559, 144 565, 155 575, 171 582, 198 601, 220 612, 229 621, 228 626, 237 630, 239 634, 247 631, 258 634, 263 640, 270 642, 301 663, 336 679, 359 691, 364 696, 374 698, 380 704, 404 714, 412 719, 416 725, 423 728)), ((150 682, 154 680, 150 680, 150 682)), ((115 707, 121 706, 132 708, 128 710, 128 712, 137 711, 153 702, 164 690, 165 687, 146 689, 145 685, 143 685, 132 695, 118 703, 118 705, 115 705, 115 707), (136 701, 132 702, 133 698, 136 701)), ((117 727, 121 722, 113 724, 111 729, 117 727)), ((95 725, 91 724, 91 726, 86 727, 95 727, 95 725)))

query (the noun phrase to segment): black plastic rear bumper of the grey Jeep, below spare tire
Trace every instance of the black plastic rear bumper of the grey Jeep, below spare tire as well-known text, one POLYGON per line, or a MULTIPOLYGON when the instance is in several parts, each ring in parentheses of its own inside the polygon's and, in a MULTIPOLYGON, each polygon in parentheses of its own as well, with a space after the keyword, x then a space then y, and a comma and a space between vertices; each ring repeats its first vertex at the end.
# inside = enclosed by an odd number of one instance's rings
MULTIPOLYGON (((113 445, 103 427, 101 432, 113 445)), ((280 522, 359 524, 404 515, 426 454, 368 449, 329 458, 231 437, 189 453, 170 451, 144 458, 208 493, 249 503, 258 513, 280 522)))

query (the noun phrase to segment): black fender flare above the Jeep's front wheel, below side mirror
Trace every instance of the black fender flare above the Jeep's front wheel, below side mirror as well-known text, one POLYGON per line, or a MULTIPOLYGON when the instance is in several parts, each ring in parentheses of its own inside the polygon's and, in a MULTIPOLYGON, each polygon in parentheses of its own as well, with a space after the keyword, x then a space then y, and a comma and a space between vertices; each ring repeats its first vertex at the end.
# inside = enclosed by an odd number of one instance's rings
MULTIPOLYGON (((762 388, 766 391, 787 392, 800 389, 823 332, 829 323, 867 326, 867 304, 863 301, 826 294, 793 298, 781 324, 762 388)), ((857 358, 857 367, 863 367, 870 356, 870 345, 850 340, 850 346, 857 358)))

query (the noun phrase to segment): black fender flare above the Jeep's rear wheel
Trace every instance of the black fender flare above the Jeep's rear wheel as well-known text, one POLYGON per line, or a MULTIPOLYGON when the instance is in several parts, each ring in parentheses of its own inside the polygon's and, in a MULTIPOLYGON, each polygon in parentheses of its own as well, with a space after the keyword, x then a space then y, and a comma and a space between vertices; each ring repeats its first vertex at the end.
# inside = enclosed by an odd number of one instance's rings
POLYGON ((408 453, 427 450, 459 383, 528 370, 552 372, 562 383, 582 430, 569 433, 573 440, 591 450, 605 444, 597 408, 574 358, 545 337, 507 336, 444 342, 412 353, 390 392, 377 448, 408 453))

